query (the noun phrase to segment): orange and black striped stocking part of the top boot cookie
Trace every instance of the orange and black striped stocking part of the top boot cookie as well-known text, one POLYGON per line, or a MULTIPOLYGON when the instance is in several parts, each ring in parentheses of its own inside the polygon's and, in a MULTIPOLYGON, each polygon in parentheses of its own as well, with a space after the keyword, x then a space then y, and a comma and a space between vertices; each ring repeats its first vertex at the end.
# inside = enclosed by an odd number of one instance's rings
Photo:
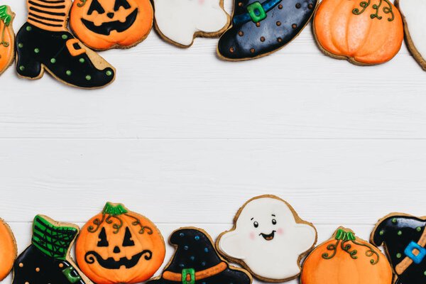
POLYGON ((46 31, 67 31, 71 0, 27 0, 27 22, 46 31))

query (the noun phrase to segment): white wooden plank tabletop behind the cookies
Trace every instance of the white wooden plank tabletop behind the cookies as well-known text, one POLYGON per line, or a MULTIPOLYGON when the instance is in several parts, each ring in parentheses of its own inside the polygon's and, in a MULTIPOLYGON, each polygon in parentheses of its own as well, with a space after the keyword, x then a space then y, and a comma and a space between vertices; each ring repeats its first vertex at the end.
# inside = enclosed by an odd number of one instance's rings
MULTIPOLYGON (((18 31, 24 1, 0 4, 18 31)), ((405 45, 358 67, 322 55, 310 26, 249 62, 219 60, 216 44, 182 50, 151 32, 102 53, 116 81, 94 91, 48 74, 20 80, 13 67, 1 76, 0 216, 20 252, 35 214, 81 226, 106 201, 145 214, 165 238, 185 225, 216 238, 266 193, 313 222, 319 241, 339 225, 368 239, 388 212, 426 214, 426 72, 405 45)))

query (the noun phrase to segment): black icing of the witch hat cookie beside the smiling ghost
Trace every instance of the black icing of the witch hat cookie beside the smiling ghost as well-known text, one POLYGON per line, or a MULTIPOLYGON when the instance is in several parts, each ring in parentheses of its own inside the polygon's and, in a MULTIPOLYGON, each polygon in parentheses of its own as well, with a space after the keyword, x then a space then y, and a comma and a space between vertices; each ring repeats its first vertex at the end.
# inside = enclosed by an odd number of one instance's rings
MULTIPOLYGON (((183 269, 192 268, 197 271, 204 271, 212 268, 222 259, 212 245, 209 237, 197 229, 180 229, 170 236, 170 243, 177 246, 173 260, 164 271, 182 273, 183 269)), ((251 278, 248 273, 235 270, 227 265, 227 268, 209 278, 197 280, 198 284, 250 284, 251 278)), ((146 284, 178 284, 163 277, 157 280, 150 280, 146 284)))

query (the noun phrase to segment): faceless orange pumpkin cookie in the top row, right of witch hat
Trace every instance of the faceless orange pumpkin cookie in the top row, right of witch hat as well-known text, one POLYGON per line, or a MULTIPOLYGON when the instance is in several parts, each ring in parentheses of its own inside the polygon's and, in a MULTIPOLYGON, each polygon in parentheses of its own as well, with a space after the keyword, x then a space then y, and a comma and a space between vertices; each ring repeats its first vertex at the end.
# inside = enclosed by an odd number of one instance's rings
POLYGON ((389 0, 324 0, 313 29, 323 53, 356 65, 391 60, 403 43, 403 21, 389 0))

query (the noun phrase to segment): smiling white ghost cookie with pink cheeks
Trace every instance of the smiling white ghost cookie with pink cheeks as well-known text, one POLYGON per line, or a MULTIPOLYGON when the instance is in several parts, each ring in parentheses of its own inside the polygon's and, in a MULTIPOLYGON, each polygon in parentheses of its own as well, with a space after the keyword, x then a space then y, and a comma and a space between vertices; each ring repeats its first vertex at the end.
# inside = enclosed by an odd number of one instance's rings
POLYGON ((283 282, 300 274, 300 259, 317 241, 317 230, 284 200, 274 195, 254 197, 236 213, 234 227, 217 239, 226 258, 241 264, 256 278, 283 282))

